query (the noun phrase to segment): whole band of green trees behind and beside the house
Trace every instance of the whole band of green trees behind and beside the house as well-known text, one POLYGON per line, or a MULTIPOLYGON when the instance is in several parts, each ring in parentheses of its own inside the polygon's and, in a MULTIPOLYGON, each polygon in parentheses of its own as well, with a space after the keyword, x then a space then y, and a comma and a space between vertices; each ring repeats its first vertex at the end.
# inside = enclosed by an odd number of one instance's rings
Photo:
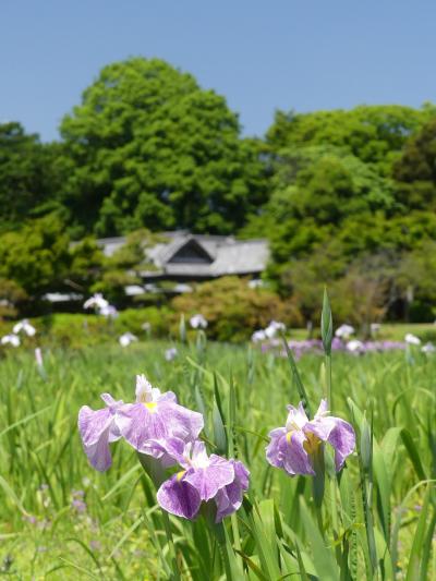
POLYGON ((132 58, 100 71, 60 135, 0 124, 0 294, 34 296, 74 273, 83 286, 99 270, 93 237, 187 228, 268 238, 266 276, 304 318, 324 283, 340 317, 434 317, 432 104, 277 111, 249 138, 222 96, 132 58))

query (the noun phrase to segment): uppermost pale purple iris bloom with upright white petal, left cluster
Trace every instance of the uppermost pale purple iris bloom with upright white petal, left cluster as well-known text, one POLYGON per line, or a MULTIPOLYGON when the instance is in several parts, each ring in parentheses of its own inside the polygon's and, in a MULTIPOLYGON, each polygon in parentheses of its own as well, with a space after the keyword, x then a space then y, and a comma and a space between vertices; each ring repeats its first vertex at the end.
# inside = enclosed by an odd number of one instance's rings
POLYGON ((169 437, 193 441, 202 432, 204 420, 201 413, 179 406, 172 391, 161 394, 144 375, 137 375, 136 402, 118 409, 117 425, 133 448, 161 459, 164 452, 156 441, 169 437))

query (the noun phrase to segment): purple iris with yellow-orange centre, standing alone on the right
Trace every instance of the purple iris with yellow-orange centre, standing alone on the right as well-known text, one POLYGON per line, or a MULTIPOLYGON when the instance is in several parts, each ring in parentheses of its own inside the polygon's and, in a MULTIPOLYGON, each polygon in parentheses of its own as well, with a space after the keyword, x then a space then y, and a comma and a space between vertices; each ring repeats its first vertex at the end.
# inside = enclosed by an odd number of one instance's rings
POLYGON ((340 417, 329 416, 325 399, 312 421, 308 421, 302 402, 298 408, 288 406, 288 410, 286 426, 269 433, 268 462, 291 476, 314 475, 313 456, 323 441, 328 441, 335 448, 336 471, 339 472, 355 447, 352 425, 340 417))

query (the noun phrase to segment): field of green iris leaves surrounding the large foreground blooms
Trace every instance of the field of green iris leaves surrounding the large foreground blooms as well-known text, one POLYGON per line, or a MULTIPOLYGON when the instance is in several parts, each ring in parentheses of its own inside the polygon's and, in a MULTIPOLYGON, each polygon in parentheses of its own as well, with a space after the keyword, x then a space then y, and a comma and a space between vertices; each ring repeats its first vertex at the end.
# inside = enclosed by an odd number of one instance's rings
MULTIPOLYGON (((122 349, 43 348, 0 360, 0 578, 16 580, 361 580, 436 574, 436 356, 405 351, 298 362, 253 346, 165 342, 122 349), (296 371, 298 370, 298 371, 296 371), (144 373, 203 413, 209 453, 250 470, 242 507, 216 524, 164 513, 125 441, 94 470, 77 432, 82 406, 100 394, 134 401, 144 373), (355 451, 338 474, 329 446, 316 477, 290 477, 265 458, 268 433, 305 395, 331 398, 355 451), (320 477, 319 474, 324 474, 320 477)), ((173 471, 172 471, 173 472, 173 471)), ((171 475, 171 470, 168 475, 171 475)))

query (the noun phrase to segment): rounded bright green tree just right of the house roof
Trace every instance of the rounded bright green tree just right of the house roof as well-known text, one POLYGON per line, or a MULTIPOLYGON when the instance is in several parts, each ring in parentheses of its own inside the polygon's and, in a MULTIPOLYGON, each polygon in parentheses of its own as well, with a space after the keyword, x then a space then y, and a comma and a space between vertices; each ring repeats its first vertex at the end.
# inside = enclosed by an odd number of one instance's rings
POLYGON ((396 206, 391 181, 337 147, 283 150, 271 186, 269 202, 244 233, 267 235, 279 264, 308 255, 349 220, 384 216, 396 206))

